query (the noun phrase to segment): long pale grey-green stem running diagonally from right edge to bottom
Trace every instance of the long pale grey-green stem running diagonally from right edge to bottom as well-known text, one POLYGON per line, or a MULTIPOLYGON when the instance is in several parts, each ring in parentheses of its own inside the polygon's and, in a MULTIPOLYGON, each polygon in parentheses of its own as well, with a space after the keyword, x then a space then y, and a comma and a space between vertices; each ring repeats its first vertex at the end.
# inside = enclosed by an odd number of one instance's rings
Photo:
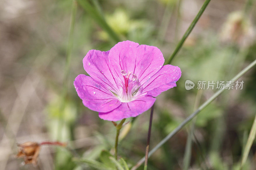
MULTIPOLYGON (((240 71, 231 81, 236 81, 238 78, 243 76, 248 70, 250 70, 253 66, 255 66, 256 60, 254 60, 251 64, 245 67, 242 71, 240 71)), ((230 82, 230 81, 229 81, 230 82)), ((189 115, 180 125, 175 128, 171 133, 169 133, 163 140, 161 140, 149 153, 148 157, 150 157, 158 148, 160 148, 164 143, 166 143, 171 137, 173 137, 180 129, 182 129, 188 122, 190 122, 196 115, 198 115, 206 106, 208 106, 214 99, 216 99, 222 92, 225 91, 225 88, 230 85, 227 83, 223 89, 218 90, 215 92, 212 97, 206 100, 200 107, 197 108, 195 112, 189 115)), ((132 167, 131 170, 137 169, 143 162, 145 161, 145 157, 140 159, 135 166, 132 167)))

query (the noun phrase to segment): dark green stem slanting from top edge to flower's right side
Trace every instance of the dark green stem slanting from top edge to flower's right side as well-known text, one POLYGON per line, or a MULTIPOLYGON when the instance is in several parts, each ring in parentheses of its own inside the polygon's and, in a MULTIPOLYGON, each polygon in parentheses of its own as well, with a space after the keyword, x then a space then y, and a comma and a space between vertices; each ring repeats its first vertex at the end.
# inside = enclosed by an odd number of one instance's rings
POLYGON ((191 33, 191 31, 195 27, 197 21, 199 20, 199 18, 203 14, 204 10, 206 9, 206 7, 207 7, 207 5, 209 4, 210 1, 211 0, 205 0, 204 1, 204 4, 203 4, 202 8, 200 9, 200 11, 196 15, 196 18, 192 21, 192 23, 188 27, 187 31, 184 33, 184 35, 181 38, 180 42, 178 43, 178 45, 176 46, 175 50, 173 51, 171 57, 166 61, 166 64, 170 64, 172 62, 172 59, 174 58, 174 56, 180 51, 180 48, 182 47, 184 41, 188 38, 188 35, 191 33))

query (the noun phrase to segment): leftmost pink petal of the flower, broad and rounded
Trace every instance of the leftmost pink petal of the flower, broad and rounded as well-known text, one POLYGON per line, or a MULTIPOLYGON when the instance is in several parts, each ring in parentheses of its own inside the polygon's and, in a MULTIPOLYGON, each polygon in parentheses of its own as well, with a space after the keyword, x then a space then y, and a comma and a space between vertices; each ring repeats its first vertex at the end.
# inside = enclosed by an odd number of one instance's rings
POLYGON ((84 106, 97 112, 109 112, 121 102, 90 76, 80 74, 74 81, 76 92, 83 100, 84 106))

